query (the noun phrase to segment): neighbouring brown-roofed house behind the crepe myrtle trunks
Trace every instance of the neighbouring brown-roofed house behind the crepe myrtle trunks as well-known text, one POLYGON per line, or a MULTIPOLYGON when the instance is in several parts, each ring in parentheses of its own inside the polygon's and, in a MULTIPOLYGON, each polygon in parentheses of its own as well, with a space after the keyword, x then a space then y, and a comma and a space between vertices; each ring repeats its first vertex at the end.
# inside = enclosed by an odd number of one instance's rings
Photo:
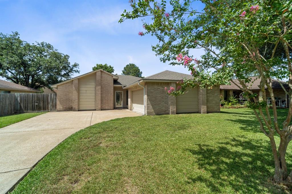
MULTIPOLYGON (((260 78, 257 76, 250 77, 251 81, 247 84, 248 88, 253 91, 253 93, 257 94, 258 98, 263 97, 263 92, 260 90, 260 78)), ((238 80, 234 79, 233 82, 238 83, 238 80)), ((243 91, 237 85, 230 81, 229 85, 220 85, 220 96, 223 97, 224 100, 227 100, 230 96, 234 96, 238 98, 241 103, 246 101, 243 96, 243 91)), ((290 87, 286 82, 281 82, 284 88, 287 91, 290 91, 290 87)), ((239 84, 239 83, 238 83, 239 84)), ((240 85, 240 84, 239 84, 240 85)), ((276 105, 281 107, 288 107, 290 100, 289 96, 282 89, 281 84, 278 80, 272 79, 272 88, 274 91, 274 97, 276 99, 276 105)), ((267 87, 265 87, 266 96, 268 104, 271 103, 270 93, 267 91, 267 87)))

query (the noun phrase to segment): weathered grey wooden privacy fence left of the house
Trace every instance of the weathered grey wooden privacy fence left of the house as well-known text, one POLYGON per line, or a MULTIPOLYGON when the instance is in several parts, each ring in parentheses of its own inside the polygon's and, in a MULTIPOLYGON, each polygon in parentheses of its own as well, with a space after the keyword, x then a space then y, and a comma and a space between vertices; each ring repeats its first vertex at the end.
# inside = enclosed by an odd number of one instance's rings
POLYGON ((18 112, 40 112, 56 110, 56 94, 0 94, 0 116, 18 112))

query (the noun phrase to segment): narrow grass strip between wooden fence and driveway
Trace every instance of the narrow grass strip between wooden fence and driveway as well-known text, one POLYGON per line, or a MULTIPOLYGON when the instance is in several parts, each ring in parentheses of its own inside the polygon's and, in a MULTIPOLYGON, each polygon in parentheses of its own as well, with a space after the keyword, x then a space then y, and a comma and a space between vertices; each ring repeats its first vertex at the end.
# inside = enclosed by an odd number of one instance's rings
POLYGON ((44 113, 46 112, 34 112, 34 113, 12 114, 8 116, 2 116, 0 117, 0 128, 6 127, 13 123, 18 123, 25 119, 29 119, 29 118, 32 118, 44 113))

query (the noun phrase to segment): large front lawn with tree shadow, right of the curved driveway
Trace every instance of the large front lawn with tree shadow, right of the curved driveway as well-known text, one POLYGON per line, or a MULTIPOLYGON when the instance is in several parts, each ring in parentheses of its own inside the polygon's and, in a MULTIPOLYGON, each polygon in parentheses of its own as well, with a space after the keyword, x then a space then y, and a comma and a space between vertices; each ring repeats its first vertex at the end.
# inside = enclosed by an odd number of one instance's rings
MULTIPOLYGON (((271 180, 269 140, 252 111, 221 111, 95 124, 53 149, 13 193, 291 193, 271 180)), ((290 146, 289 169, 291 156, 290 146)))

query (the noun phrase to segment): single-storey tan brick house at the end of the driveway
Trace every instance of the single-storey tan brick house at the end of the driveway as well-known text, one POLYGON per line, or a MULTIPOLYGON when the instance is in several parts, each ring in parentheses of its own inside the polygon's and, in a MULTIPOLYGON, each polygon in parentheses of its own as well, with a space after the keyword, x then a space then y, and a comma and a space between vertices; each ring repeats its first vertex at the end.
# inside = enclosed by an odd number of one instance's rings
POLYGON ((99 69, 52 87, 56 89, 58 111, 128 108, 146 115, 220 112, 219 86, 198 86, 182 96, 168 96, 164 88, 176 88, 176 82, 183 78, 192 76, 166 70, 140 78, 99 69))

